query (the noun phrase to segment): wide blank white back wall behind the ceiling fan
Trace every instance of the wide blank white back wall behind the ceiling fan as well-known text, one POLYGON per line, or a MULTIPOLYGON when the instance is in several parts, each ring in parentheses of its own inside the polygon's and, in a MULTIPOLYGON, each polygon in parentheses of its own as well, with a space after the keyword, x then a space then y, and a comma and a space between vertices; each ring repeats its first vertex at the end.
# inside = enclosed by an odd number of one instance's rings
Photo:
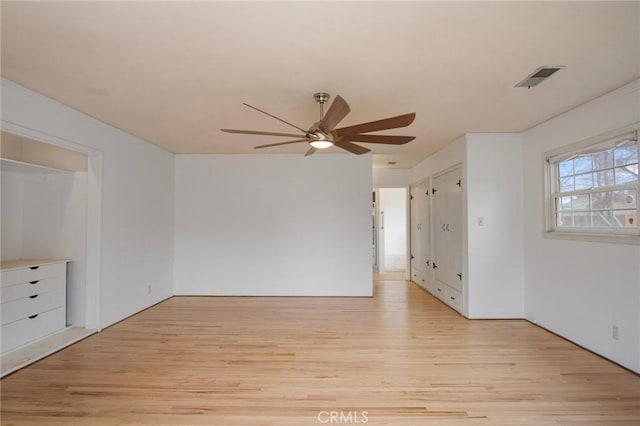
POLYGON ((371 156, 178 155, 175 294, 371 296, 371 156))

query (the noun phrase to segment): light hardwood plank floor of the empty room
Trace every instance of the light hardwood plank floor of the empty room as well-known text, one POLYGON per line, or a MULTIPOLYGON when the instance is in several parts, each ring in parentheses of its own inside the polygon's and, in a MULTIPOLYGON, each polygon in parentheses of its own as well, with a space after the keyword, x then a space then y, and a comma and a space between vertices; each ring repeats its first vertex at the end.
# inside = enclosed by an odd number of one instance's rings
POLYGON ((640 422, 639 376, 404 281, 373 298, 174 297, 1 386, 6 425, 640 422))

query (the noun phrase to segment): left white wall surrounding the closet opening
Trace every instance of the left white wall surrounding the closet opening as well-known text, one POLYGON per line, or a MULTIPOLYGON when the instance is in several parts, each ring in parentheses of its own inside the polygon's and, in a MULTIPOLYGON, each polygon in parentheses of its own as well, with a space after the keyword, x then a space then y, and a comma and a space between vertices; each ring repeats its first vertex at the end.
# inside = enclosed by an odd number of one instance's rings
POLYGON ((171 296, 173 155, 6 79, 2 122, 102 157, 101 325, 171 296))

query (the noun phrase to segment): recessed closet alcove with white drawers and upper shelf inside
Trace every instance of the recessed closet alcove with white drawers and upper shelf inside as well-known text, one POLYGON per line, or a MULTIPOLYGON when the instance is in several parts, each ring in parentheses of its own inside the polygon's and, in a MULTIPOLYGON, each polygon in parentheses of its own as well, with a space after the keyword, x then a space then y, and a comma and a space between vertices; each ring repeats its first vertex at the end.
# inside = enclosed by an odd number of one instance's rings
POLYGON ((93 331, 85 328, 91 300, 86 282, 88 158, 4 131, 1 136, 4 376, 93 331))

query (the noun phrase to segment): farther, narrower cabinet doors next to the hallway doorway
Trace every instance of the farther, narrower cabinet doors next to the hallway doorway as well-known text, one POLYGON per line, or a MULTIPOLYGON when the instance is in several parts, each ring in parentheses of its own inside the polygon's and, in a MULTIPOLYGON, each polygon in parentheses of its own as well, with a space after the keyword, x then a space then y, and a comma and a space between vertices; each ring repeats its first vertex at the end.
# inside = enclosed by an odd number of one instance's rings
POLYGON ((411 186, 411 280, 427 289, 431 267, 429 182, 411 186))

